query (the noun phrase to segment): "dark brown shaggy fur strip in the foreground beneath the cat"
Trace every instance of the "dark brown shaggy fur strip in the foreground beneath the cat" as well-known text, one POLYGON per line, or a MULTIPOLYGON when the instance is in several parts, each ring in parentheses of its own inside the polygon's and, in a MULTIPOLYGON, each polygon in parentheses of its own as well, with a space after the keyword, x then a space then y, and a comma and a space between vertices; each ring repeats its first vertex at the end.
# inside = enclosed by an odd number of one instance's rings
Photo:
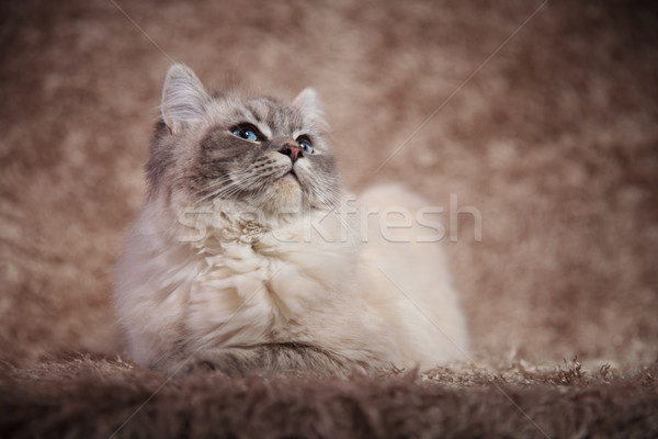
POLYGON ((317 380, 197 373, 77 360, 0 375, 11 437, 655 438, 658 364, 629 376, 580 364, 497 373, 436 370, 317 380), (164 384, 164 385, 163 385, 164 384), (125 424, 124 424, 125 423, 125 424))

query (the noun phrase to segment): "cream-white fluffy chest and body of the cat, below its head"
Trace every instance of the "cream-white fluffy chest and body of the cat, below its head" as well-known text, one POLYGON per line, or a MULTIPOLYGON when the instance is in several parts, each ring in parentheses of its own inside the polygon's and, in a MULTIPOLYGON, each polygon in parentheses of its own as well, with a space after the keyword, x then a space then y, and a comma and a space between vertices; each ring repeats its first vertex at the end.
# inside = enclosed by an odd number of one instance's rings
POLYGON ((128 238, 115 294, 131 353, 143 364, 208 347, 297 341, 428 368, 467 347, 435 244, 395 248, 376 230, 362 243, 326 214, 254 241, 175 243, 152 215, 147 206, 128 238))

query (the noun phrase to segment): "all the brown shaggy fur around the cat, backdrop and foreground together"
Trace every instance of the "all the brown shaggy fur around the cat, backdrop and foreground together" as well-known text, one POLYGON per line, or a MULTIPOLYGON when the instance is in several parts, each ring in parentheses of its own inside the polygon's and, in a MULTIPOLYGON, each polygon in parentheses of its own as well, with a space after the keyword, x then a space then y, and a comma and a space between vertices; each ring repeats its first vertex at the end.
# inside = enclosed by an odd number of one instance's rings
POLYGON ((656 437, 658 13, 549 0, 519 30, 540 4, 0 3, 2 436, 107 437, 146 402, 120 436, 656 437), (481 241, 461 215, 446 244, 475 363, 148 399, 166 376, 103 360, 169 57, 213 89, 313 86, 349 187, 476 207, 481 241))

